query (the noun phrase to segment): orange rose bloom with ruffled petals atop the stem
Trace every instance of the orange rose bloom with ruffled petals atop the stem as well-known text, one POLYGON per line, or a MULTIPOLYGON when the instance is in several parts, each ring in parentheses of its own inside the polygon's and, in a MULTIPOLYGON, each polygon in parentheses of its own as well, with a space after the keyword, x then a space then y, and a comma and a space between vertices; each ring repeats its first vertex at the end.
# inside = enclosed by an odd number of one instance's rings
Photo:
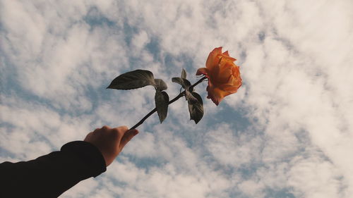
POLYGON ((196 75, 208 78, 208 99, 218 105, 224 97, 237 92, 241 86, 239 66, 234 64, 237 59, 229 56, 228 51, 222 54, 222 47, 210 52, 206 68, 199 68, 196 75))

